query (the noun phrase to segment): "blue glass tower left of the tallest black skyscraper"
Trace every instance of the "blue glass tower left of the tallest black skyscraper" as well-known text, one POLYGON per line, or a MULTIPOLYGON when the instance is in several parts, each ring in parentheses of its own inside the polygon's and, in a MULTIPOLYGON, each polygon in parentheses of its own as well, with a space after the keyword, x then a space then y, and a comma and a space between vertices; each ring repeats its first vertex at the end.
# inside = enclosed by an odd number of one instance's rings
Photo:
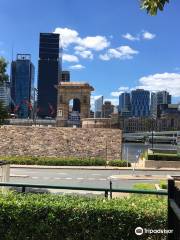
POLYGON ((34 90, 34 65, 30 54, 17 54, 11 64, 11 102, 19 118, 31 116, 34 90))

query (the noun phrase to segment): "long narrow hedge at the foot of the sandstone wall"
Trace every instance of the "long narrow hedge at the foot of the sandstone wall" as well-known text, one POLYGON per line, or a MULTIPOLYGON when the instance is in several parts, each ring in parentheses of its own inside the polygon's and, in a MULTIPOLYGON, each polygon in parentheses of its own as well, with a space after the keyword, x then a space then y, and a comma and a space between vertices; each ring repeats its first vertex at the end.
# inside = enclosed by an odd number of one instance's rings
MULTIPOLYGON (((10 164, 17 165, 45 165, 45 166, 106 166, 106 160, 100 158, 55 158, 55 157, 32 157, 32 156, 6 156, 0 160, 7 160, 10 164)), ((123 160, 112 160, 109 166, 126 167, 123 160)), ((129 166, 130 163, 129 163, 129 166)))

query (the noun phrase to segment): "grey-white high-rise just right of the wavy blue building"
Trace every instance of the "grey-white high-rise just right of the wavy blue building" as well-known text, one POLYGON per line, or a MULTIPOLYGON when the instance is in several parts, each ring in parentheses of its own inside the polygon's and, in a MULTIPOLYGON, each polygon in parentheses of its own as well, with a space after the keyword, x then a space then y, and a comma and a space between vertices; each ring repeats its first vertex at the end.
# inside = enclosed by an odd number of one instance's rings
POLYGON ((159 91, 157 93, 151 93, 151 116, 157 117, 158 105, 160 104, 171 104, 171 95, 167 91, 159 91))

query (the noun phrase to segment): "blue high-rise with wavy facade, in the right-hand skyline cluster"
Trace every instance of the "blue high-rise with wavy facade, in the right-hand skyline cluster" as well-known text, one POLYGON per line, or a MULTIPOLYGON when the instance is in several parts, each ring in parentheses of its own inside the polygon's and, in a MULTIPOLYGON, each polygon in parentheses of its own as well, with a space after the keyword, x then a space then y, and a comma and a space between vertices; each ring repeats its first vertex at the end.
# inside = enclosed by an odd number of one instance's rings
POLYGON ((136 89, 131 92, 131 106, 133 117, 149 116, 150 93, 144 89, 136 89))

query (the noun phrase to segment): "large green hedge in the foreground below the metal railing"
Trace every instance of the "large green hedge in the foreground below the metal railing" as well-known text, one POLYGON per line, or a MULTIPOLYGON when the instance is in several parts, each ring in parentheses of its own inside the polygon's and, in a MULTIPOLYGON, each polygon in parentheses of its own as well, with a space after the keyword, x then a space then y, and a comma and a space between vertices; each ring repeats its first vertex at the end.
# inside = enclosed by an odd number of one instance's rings
POLYGON ((155 240, 157 235, 136 236, 135 228, 167 229, 166 220, 167 199, 163 197, 105 200, 50 194, 0 195, 3 240, 155 240))

